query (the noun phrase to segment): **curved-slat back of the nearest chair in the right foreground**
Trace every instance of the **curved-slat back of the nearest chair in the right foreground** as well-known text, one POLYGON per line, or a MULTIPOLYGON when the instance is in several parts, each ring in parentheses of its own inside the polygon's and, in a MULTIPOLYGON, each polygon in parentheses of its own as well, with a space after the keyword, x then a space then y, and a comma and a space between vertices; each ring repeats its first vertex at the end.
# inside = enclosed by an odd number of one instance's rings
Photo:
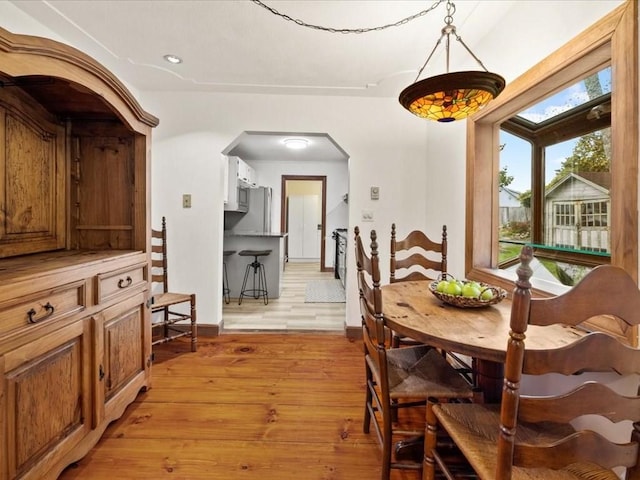
POLYGON ((512 466, 558 469, 585 463, 605 469, 627 467, 627 478, 640 478, 640 397, 636 389, 631 395, 621 395, 602 383, 601 375, 592 375, 591 380, 557 395, 521 395, 519 391, 523 374, 557 373, 572 379, 584 372, 640 374, 640 350, 607 333, 592 332, 555 350, 525 348, 529 325, 535 328, 558 323, 579 326, 601 315, 617 317, 630 327, 638 325, 638 286, 621 268, 601 265, 563 295, 531 298, 532 249, 524 247, 520 258, 505 363, 496 478, 511 478, 512 466), (630 440, 615 443, 589 429, 578 429, 562 439, 555 438, 553 444, 544 441, 525 444, 515 440, 516 429, 522 422, 566 424, 583 415, 597 415, 610 422, 630 422, 630 440))

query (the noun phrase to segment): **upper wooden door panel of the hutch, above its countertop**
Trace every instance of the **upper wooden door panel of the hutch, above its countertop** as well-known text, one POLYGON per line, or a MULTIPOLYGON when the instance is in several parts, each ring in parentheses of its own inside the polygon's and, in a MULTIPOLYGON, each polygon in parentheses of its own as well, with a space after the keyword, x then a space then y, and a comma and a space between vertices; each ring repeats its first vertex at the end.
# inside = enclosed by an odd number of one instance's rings
POLYGON ((65 246, 64 129, 0 96, 0 258, 65 246))

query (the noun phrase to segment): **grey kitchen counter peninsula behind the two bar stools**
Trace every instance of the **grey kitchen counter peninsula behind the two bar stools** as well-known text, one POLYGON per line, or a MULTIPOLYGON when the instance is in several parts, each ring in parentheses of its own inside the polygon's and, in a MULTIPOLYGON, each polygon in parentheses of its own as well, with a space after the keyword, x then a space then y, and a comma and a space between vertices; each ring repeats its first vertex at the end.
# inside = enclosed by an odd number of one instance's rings
MULTIPOLYGON (((235 301, 237 301, 237 298, 240 296, 247 264, 253 261, 253 257, 241 257, 238 255, 241 250, 271 250, 270 255, 260 257, 260 262, 264 264, 269 298, 280 297, 282 291, 282 272, 284 271, 284 239, 286 236, 286 233, 279 232, 234 230, 224 232, 223 249, 235 250, 233 255, 229 255, 224 259, 227 267, 227 276, 229 278, 229 296, 232 299, 236 299, 235 301)), ((247 285, 250 285, 252 280, 253 273, 250 272, 247 285)), ((257 301, 258 300, 250 297, 244 297, 242 304, 244 305, 246 303, 249 305, 257 301)), ((262 302, 262 300, 259 301, 262 302)))

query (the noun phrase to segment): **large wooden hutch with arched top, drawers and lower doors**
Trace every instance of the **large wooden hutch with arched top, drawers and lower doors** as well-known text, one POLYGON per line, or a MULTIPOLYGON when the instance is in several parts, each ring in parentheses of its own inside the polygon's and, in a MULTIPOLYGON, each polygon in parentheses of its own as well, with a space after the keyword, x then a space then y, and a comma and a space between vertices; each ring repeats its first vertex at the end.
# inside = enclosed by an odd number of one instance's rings
POLYGON ((55 480, 150 386, 151 129, 91 58, 0 28, 0 480, 55 480))

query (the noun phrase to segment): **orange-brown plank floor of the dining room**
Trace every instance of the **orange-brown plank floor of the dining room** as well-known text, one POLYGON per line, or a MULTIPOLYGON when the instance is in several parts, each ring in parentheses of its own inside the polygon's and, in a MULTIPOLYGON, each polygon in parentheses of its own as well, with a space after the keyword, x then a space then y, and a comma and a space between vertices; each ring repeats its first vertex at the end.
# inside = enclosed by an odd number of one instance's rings
POLYGON ((196 353, 188 339, 154 347, 152 388, 60 480, 379 478, 375 434, 362 432, 359 341, 342 333, 198 340, 196 353))

